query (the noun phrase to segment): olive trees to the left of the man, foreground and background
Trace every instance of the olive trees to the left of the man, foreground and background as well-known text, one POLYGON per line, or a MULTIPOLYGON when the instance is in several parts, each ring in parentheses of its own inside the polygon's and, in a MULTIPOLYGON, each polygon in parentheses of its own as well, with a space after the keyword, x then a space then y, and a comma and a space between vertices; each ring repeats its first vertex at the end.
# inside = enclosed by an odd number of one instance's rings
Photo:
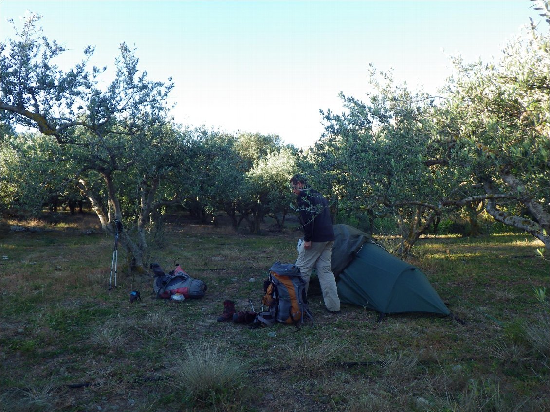
POLYGON ((260 188, 253 171, 263 159, 292 157, 288 149, 279 153, 279 136, 182 130, 168 116, 172 83, 150 81, 134 50, 120 45, 114 80, 101 87, 105 68, 88 68, 94 49, 86 48, 74 68, 60 69, 55 62, 64 48, 40 36, 39 21, 28 14, 22 30, 14 27, 16 40, 2 43, 3 210, 29 212, 50 192, 79 192, 103 230, 123 222, 120 243, 136 269, 146 267, 147 238, 162 232, 170 205, 214 224, 226 211, 235 227, 244 218, 252 232, 263 216, 285 209, 286 175, 278 186, 270 179, 260 188), (15 133, 16 124, 39 133, 15 133))

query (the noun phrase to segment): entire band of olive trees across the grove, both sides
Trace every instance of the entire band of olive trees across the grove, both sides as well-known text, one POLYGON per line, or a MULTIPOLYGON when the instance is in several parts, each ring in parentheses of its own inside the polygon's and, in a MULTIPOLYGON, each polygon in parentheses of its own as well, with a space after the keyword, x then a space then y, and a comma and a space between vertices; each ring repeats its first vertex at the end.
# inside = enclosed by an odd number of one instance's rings
POLYGON ((394 219, 401 254, 461 208, 472 219, 483 208, 550 249, 548 26, 531 25, 497 62, 454 58, 438 97, 372 65, 368 102, 340 93, 343 112, 321 111, 323 135, 299 152, 278 135, 174 124, 171 80, 150 80, 124 43, 111 81, 89 67, 91 46, 62 70, 64 48, 41 36, 39 21, 30 13, 1 47, 2 211, 31 213, 49 196, 78 193, 104 230, 124 222, 120 241, 143 268, 168 207, 213 224, 223 211, 259 233, 266 216, 284 225, 288 179, 303 172, 340 219, 394 219))

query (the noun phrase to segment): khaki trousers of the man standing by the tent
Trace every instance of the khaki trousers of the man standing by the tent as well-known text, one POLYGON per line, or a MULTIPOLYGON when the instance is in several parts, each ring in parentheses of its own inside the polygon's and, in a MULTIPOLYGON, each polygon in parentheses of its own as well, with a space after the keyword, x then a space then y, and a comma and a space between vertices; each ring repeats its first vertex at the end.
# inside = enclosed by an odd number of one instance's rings
POLYGON ((324 305, 331 312, 340 310, 340 299, 336 280, 331 270, 332 242, 311 242, 311 248, 304 248, 302 242, 298 247, 298 260, 296 266, 300 268, 301 275, 306 281, 306 293, 309 287, 311 270, 317 269, 317 277, 323 292, 324 305))

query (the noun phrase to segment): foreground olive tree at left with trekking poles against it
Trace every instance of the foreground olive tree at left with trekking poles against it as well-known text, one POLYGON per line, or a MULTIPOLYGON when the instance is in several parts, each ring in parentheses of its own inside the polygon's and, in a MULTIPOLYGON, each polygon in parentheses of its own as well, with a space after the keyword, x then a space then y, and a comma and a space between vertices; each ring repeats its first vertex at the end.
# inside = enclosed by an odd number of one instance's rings
POLYGON ((136 223, 136 238, 124 231, 120 242, 131 265, 144 266, 145 222, 160 179, 185 155, 177 142, 167 144, 174 136, 166 133, 166 98, 173 85, 148 80, 138 70, 135 52, 124 43, 114 80, 105 88, 98 81, 103 70, 87 67, 92 47, 85 49, 81 63, 62 70, 55 62, 64 48, 39 36, 39 20, 37 14, 27 15, 23 29, 15 30, 18 38, 2 43, 2 121, 36 129, 65 148, 77 169, 70 177, 89 197, 102 227, 112 231, 115 220, 136 223), (174 149, 170 158, 175 161, 169 165, 163 161, 167 149, 174 149), (121 204, 131 174, 137 215, 121 204), (98 189, 107 202, 100 201, 98 189))

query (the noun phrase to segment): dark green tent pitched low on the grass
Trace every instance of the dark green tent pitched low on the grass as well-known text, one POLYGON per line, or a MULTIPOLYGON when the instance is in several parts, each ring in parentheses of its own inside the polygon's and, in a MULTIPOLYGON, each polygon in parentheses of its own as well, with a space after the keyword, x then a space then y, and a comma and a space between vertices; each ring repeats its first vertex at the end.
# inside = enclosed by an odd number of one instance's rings
POLYGON ((342 303, 380 314, 451 314, 420 269, 390 254, 355 227, 334 225, 334 234, 332 271, 342 303))

